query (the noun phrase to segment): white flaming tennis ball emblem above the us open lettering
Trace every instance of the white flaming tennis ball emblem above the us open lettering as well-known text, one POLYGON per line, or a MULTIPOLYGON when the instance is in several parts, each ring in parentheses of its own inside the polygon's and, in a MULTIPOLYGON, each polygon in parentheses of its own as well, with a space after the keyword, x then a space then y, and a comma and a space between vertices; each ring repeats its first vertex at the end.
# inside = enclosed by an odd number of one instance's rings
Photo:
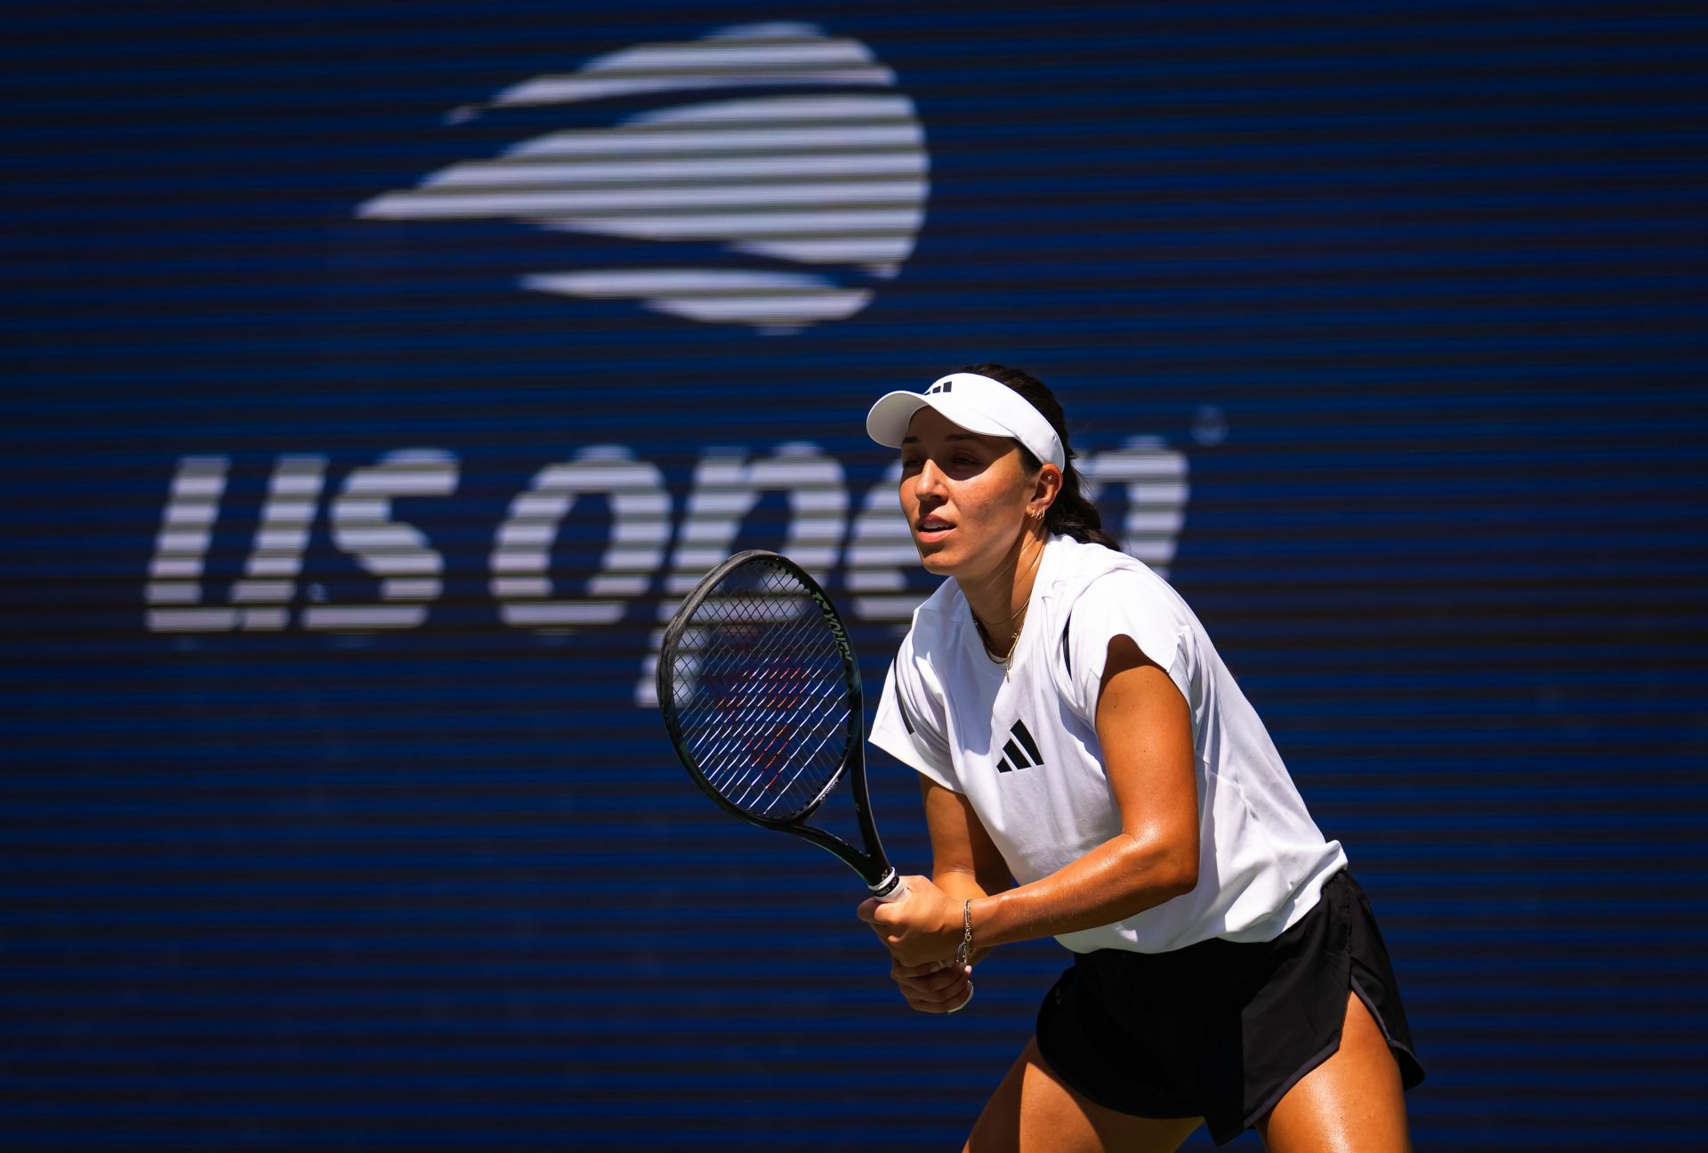
POLYGON ((540 268, 518 282, 531 292, 634 299, 765 335, 845 319, 914 253, 929 193, 914 102, 893 91, 895 73, 866 44, 811 24, 726 27, 533 77, 447 120, 767 87, 787 92, 716 96, 529 137, 355 212, 509 219, 637 241, 634 265, 540 268))

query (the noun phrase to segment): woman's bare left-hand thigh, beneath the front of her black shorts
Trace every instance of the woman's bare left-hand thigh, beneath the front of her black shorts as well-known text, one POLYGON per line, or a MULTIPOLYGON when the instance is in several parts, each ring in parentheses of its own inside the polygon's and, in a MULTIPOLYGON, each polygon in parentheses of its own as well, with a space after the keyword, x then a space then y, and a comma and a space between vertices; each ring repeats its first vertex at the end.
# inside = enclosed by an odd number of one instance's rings
POLYGON ((1202 1119, 1151 1121, 1062 1085, 1033 1037, 991 1095, 962 1153, 1172 1153, 1202 1119))

